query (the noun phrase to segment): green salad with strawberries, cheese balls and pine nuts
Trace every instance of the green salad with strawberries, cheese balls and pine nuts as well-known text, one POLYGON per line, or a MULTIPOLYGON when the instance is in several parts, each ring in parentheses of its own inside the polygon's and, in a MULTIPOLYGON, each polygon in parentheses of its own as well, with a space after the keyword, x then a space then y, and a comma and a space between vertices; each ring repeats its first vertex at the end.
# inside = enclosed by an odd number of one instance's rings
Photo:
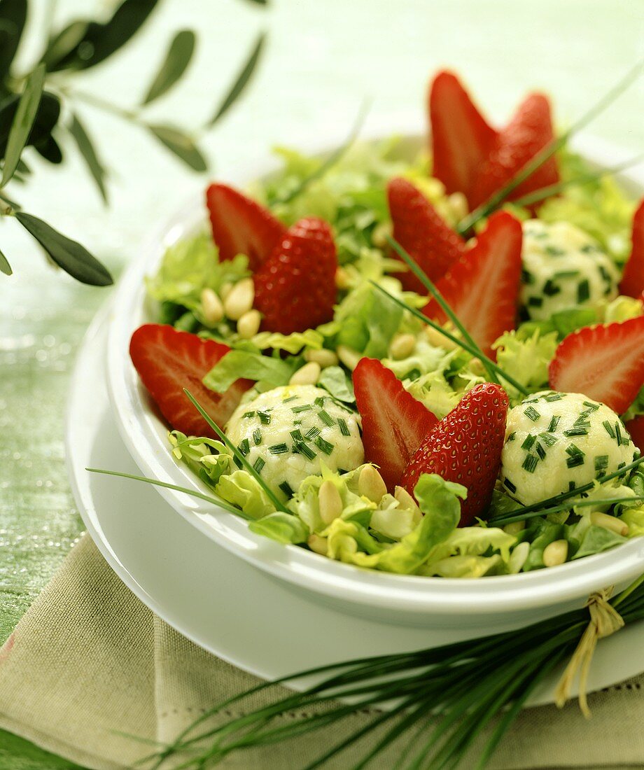
POLYGON ((169 451, 252 531, 357 567, 619 546, 644 534, 644 202, 545 152, 542 94, 496 128, 439 72, 428 114, 412 159, 278 148, 277 175, 208 188, 130 344, 169 451))

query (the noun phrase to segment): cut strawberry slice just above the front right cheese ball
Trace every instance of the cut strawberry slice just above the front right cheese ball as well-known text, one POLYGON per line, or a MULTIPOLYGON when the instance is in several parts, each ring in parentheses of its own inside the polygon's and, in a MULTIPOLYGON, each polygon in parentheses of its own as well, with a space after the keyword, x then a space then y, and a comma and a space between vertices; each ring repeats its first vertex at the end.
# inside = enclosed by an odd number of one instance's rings
POLYGON ((548 374, 555 390, 625 412, 644 385, 644 316, 572 332, 559 343, 548 374))

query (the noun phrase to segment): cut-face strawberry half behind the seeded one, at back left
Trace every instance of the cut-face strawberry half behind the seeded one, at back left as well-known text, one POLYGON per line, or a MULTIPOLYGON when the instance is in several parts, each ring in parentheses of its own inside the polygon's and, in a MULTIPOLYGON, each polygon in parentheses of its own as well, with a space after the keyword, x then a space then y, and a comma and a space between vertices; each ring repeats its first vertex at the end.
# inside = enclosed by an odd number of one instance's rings
POLYGON ((227 185, 210 185, 206 204, 220 259, 246 254, 254 273, 286 228, 268 209, 227 185))

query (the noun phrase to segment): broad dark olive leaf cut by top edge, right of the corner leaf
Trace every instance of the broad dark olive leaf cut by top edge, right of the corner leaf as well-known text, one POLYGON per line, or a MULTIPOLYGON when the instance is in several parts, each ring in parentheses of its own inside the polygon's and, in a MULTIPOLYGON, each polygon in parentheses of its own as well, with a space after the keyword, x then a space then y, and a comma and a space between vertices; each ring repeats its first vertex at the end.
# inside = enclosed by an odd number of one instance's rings
POLYGON ((104 24, 87 22, 85 34, 68 52, 49 55, 50 72, 89 69, 103 62, 132 38, 153 12, 157 0, 123 0, 104 24))

